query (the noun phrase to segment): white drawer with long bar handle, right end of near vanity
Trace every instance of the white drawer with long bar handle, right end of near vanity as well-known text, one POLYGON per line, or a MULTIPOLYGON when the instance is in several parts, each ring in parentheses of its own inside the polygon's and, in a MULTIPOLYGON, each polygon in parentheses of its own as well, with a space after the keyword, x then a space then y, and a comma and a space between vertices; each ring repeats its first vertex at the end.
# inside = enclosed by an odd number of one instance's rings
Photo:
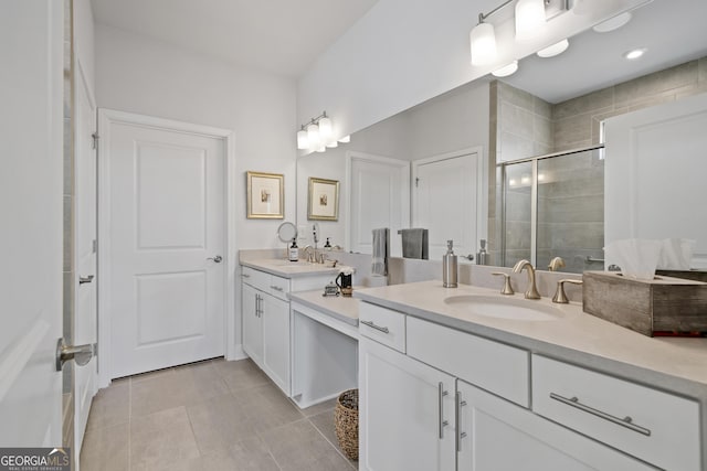
POLYGON ((695 400, 534 355, 532 409, 659 468, 700 469, 695 400))

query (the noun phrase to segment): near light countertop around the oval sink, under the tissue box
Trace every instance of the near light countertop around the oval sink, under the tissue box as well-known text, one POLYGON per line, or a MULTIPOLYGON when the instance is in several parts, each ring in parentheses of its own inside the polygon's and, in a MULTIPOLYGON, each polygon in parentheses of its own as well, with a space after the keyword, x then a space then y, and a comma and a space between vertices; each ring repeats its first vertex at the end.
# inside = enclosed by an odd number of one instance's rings
MULTIPOLYGON (((582 311, 581 303, 556 304, 557 320, 528 321, 476 315, 444 302, 463 295, 498 296, 498 290, 441 281, 359 289, 354 296, 371 303, 499 342, 570 362, 593 366, 707 399, 707 339, 650 338, 582 311)), ((523 293, 514 295, 523 300, 523 293)))

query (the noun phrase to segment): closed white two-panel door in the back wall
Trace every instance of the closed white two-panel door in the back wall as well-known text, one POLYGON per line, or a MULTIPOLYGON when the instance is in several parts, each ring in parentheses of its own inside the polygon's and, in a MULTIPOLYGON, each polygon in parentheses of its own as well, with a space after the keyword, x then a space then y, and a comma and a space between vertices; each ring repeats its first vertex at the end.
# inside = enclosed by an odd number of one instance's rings
POLYGON ((224 141, 109 126, 110 375, 223 355, 224 141))

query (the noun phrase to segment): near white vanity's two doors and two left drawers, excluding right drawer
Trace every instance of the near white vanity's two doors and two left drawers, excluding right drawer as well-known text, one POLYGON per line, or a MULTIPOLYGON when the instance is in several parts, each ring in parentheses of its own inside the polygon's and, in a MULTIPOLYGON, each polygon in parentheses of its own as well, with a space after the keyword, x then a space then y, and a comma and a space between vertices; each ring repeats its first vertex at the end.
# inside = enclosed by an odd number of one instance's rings
POLYGON ((359 317, 361 469, 655 469, 535 414, 526 350, 367 302, 359 317))

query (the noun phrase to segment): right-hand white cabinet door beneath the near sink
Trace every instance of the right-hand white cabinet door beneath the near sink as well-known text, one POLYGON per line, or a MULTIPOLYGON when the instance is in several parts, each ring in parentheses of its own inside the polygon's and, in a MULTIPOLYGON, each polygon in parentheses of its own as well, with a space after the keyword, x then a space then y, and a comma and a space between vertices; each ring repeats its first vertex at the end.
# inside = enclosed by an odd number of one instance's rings
POLYGON ((457 379, 458 471, 655 468, 457 379))

